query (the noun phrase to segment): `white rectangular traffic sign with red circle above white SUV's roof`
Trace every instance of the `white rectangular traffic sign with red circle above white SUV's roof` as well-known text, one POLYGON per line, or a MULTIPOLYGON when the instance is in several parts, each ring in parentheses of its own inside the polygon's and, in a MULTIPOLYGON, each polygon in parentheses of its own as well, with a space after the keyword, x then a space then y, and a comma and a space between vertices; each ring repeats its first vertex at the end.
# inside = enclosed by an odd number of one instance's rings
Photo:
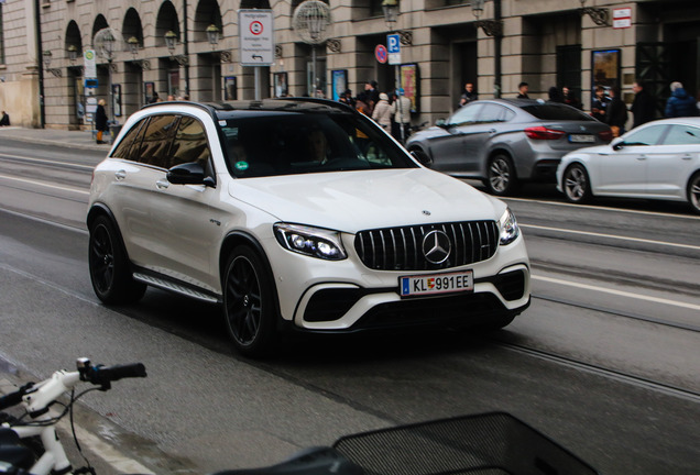
POLYGON ((239 10, 241 66, 270 66, 274 63, 272 10, 239 10))

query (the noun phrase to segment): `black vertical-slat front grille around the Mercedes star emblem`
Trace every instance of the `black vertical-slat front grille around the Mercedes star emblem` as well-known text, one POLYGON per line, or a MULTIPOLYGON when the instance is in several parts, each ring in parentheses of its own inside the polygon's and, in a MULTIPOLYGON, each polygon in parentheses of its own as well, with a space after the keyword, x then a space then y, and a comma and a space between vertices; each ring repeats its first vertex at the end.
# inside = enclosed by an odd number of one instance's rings
POLYGON ((360 231, 354 248, 369 268, 376 270, 435 270, 485 261, 499 246, 495 221, 463 221, 360 231), (442 231, 451 251, 447 259, 433 264, 423 253, 423 240, 430 231, 442 231))

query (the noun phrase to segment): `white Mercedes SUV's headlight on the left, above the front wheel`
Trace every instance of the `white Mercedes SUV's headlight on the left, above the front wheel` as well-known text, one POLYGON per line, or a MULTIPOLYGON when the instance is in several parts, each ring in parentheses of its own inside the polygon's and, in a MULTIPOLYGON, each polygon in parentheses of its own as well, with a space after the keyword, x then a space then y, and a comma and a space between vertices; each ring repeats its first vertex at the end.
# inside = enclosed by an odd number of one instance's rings
POLYGON ((274 230, 280 244, 292 252, 328 261, 348 257, 337 231, 287 223, 276 223, 274 230))

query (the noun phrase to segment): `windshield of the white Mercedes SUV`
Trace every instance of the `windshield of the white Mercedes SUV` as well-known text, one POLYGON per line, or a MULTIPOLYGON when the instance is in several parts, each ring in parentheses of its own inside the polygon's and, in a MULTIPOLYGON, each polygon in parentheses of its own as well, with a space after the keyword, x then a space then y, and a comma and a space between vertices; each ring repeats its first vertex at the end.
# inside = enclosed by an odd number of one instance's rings
POLYGON ((418 166, 369 120, 350 113, 238 111, 220 117, 219 126, 238 178, 418 166))

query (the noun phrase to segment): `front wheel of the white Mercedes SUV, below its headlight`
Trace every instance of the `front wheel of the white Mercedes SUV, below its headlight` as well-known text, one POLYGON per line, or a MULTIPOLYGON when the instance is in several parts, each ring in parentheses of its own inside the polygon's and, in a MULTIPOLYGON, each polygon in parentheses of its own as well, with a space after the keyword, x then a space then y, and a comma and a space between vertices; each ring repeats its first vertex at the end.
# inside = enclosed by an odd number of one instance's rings
POLYGON ((270 273, 245 245, 231 253, 223 274, 223 317, 236 349, 245 356, 269 354, 277 311, 270 273))

